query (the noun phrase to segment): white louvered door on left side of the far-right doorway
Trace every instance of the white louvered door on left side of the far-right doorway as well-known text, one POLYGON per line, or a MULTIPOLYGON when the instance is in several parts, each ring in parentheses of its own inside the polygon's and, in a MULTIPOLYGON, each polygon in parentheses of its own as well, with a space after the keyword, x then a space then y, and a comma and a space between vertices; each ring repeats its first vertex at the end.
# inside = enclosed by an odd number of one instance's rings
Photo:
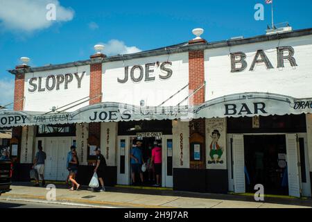
POLYGON ((244 136, 233 135, 234 192, 245 193, 244 136))

